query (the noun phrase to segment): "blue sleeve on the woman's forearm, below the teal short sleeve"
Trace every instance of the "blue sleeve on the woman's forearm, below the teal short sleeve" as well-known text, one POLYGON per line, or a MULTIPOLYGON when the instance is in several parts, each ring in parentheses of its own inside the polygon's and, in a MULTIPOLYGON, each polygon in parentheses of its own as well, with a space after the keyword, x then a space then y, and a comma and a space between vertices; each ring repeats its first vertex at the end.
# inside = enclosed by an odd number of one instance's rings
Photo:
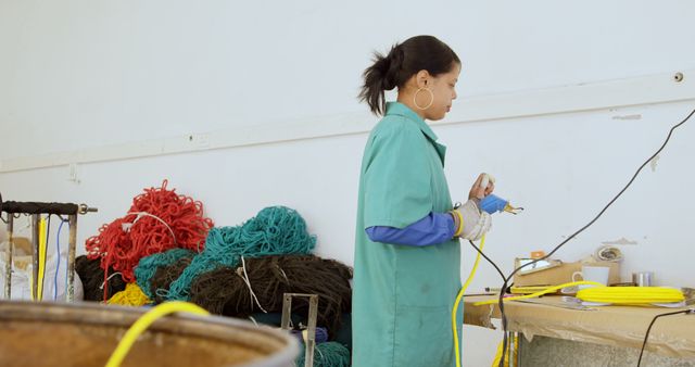
POLYGON ((430 213, 425 218, 403 228, 374 226, 365 229, 374 242, 426 246, 454 237, 454 218, 448 213, 430 213))

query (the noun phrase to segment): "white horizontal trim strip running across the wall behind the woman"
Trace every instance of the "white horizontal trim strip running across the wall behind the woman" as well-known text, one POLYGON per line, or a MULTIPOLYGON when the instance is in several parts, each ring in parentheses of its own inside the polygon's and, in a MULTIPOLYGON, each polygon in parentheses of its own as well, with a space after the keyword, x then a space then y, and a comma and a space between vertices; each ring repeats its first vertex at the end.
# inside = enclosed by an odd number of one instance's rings
MULTIPOLYGON (((520 92, 462 98, 437 125, 465 124, 695 99, 695 69, 520 92)), ((260 124, 165 139, 0 160, 0 173, 317 139, 369 131, 368 112, 260 124)))

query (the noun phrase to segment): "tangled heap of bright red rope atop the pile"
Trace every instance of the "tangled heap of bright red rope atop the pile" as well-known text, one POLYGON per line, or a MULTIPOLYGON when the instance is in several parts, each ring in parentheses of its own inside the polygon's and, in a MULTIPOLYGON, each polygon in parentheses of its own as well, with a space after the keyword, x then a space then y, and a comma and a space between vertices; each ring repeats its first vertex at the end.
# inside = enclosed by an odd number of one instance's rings
MULTIPOLYGON (((134 268, 148 255, 180 248, 202 251, 213 222, 203 216, 200 201, 161 188, 144 189, 132 200, 128 214, 87 239, 89 258, 101 258, 101 268, 113 267, 126 282, 135 281, 134 268)), ((104 271, 104 278, 108 271, 104 271)))

